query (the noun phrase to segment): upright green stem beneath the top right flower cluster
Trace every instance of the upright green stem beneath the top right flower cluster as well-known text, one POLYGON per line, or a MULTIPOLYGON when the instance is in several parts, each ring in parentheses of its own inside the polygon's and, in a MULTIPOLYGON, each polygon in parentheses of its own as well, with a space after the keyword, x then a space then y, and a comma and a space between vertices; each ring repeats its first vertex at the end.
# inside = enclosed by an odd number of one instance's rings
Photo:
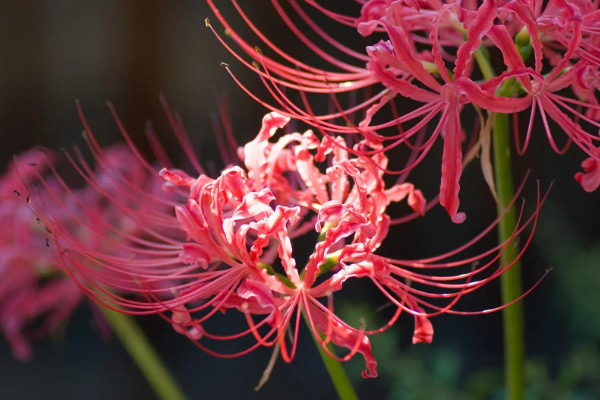
MULTIPOLYGON (((475 60, 479 65, 484 79, 489 80, 495 76, 489 56, 481 49, 475 51, 475 60)), ((506 81, 499 89, 499 95, 510 96, 512 85, 506 81)), ((494 173, 496 178, 496 192, 498 193, 498 215, 505 212, 506 207, 515 197, 512 180, 512 164, 510 158, 509 116, 494 114, 492 136, 494 143, 494 173)), ((498 241, 504 243, 510 239, 516 228, 514 208, 506 211, 498 224, 498 241)), ((515 261, 519 253, 518 245, 511 242, 500 257, 501 265, 509 265, 510 269, 500 277, 502 303, 508 304, 523 293, 521 283, 521 264, 515 261)), ((507 400, 522 400, 524 392, 524 352, 525 332, 523 324, 523 302, 517 301, 502 310, 503 336, 504 336, 504 390, 507 400)))

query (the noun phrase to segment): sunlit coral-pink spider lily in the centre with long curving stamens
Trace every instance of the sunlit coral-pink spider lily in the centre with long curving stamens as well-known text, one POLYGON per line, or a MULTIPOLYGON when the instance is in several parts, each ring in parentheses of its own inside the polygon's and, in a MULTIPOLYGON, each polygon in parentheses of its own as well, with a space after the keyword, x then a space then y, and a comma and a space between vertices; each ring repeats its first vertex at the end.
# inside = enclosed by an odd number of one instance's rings
MULTIPOLYGON (((53 197, 51 188, 46 186, 46 195, 36 195, 37 208, 51 228, 60 264, 106 307, 161 314, 176 331, 216 356, 236 357, 277 345, 288 362, 296 354, 304 315, 325 351, 329 343, 348 349, 345 356, 332 357, 347 360, 360 353, 366 361, 363 376, 377 376, 368 336, 384 331, 406 312, 415 320, 413 341, 431 341, 430 316, 461 313, 454 306, 463 295, 511 267, 512 263, 495 267, 496 261, 527 226, 535 227, 540 202, 531 217, 520 221, 509 242, 465 260, 451 261, 497 221, 464 246, 438 257, 382 257, 375 251, 388 233, 387 206, 407 199, 422 213, 423 196, 408 183, 386 188, 382 170, 388 160, 383 153, 352 156, 342 138, 318 140, 311 131, 279 135, 287 122, 281 114, 265 116, 256 138, 239 150, 244 168, 228 166, 216 178, 162 169, 166 194, 179 199, 172 201, 144 189, 134 189, 130 196, 121 193, 129 191, 130 178, 111 168, 84 120, 92 152, 111 185, 120 190, 102 190, 87 168, 75 162, 74 166, 105 197, 107 206, 126 215, 127 229, 110 222, 99 227, 78 218, 79 229, 89 237, 111 244, 90 248, 55 212, 45 210, 44 198, 53 197), (318 240, 306 263, 298 265, 294 247, 309 232, 318 240), (477 262, 480 265, 472 267, 477 262), (334 297, 343 295, 344 283, 356 279, 374 285, 395 306, 381 328, 353 327, 335 314, 334 297), (239 313, 247 327, 215 333, 209 320, 217 313, 239 313), (207 344, 248 337, 254 344, 234 353, 207 344)), ((117 124, 130 142, 118 118, 117 124)), ((133 152, 152 169, 135 148, 133 152)), ((530 239, 531 235, 524 248, 530 239)))

